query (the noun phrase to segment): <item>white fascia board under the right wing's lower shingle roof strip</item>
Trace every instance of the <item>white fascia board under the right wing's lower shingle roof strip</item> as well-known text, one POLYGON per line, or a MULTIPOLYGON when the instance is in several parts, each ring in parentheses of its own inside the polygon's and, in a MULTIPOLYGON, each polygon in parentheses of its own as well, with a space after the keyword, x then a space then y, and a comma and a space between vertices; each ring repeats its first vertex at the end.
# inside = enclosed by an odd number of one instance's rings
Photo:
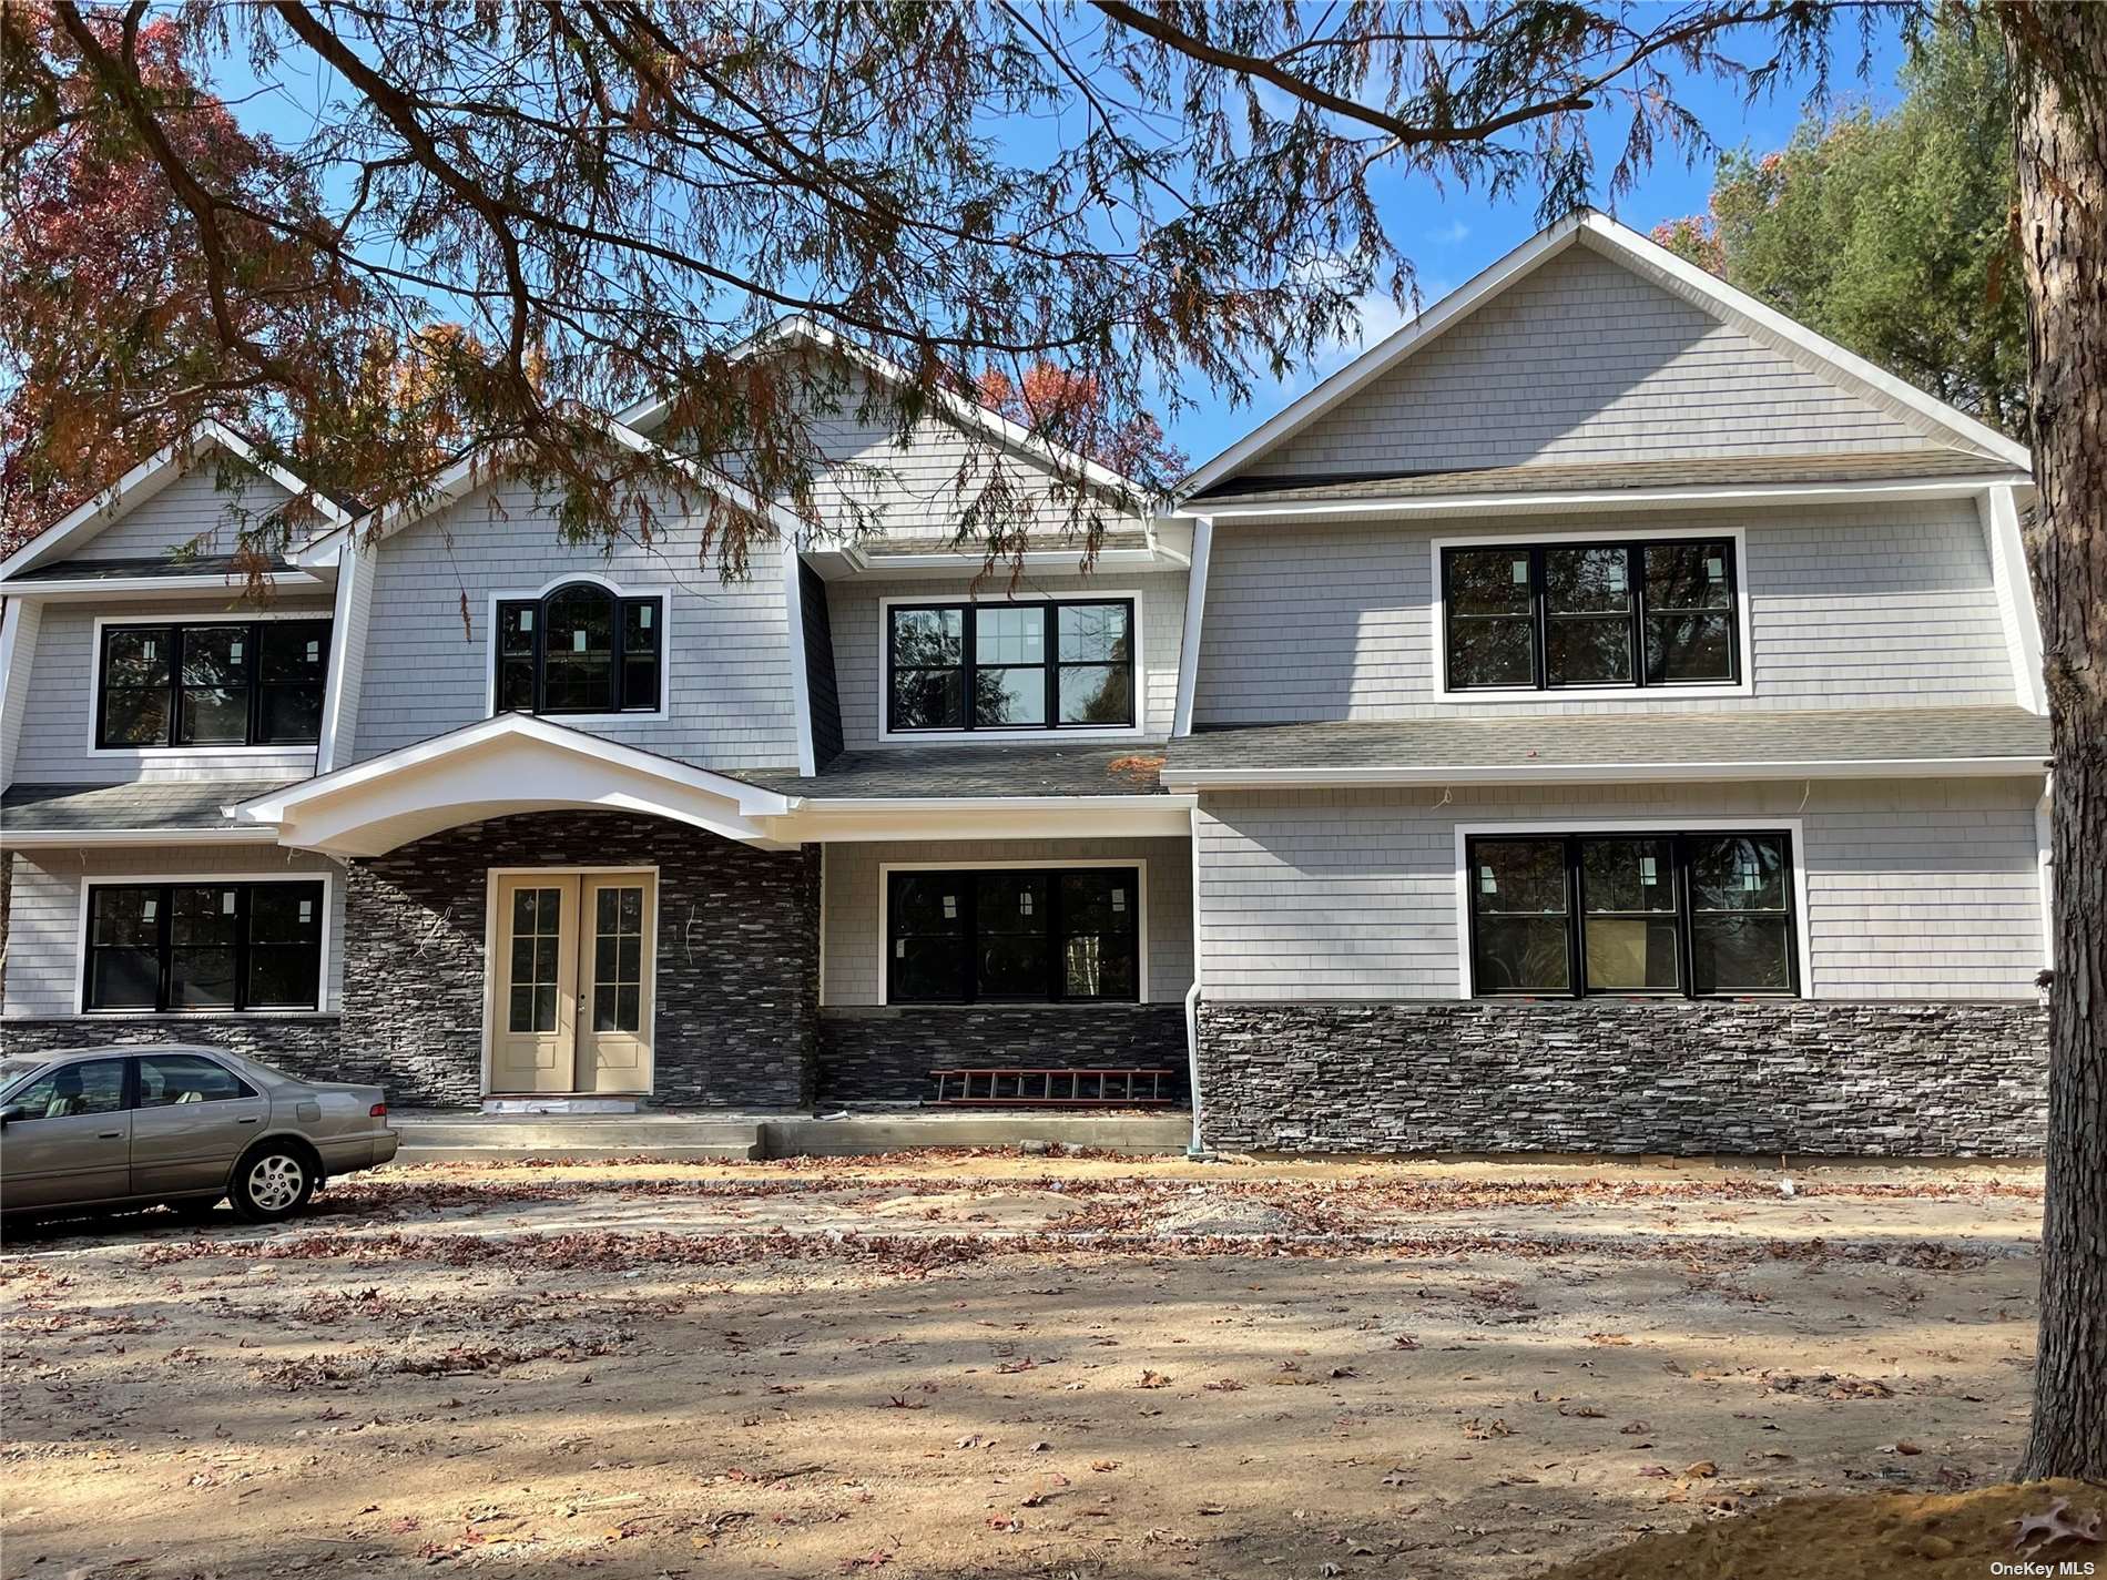
POLYGON ((1163 769, 1180 790, 1351 790, 1393 784, 1724 784, 1742 779, 2014 779, 2046 756, 1890 756, 1801 763, 1473 763, 1367 769, 1163 769))

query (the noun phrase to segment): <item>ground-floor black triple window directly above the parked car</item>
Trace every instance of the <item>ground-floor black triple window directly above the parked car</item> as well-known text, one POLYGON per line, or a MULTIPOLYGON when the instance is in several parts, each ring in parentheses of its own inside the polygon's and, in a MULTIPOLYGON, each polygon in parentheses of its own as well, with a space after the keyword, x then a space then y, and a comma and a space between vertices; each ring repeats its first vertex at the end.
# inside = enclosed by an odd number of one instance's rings
POLYGON ((82 1009, 320 1009, 320 883, 88 889, 82 1009))

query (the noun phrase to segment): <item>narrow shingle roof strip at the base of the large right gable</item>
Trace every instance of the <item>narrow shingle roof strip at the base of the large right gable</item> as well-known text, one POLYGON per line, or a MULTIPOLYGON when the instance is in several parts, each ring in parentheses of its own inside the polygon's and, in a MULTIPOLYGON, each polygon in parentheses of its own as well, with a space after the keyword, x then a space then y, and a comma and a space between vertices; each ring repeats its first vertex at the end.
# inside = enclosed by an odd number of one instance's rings
POLYGON ((1456 493, 1587 493, 1597 489, 1679 489, 1768 482, 1890 482, 1898 478, 2025 476, 1972 451, 1922 449, 1879 455, 1745 455, 1681 461, 1593 461, 1587 466, 1481 466, 1464 472, 1395 476, 1228 478, 1186 503, 1256 506, 1311 499, 1418 499, 1456 493))

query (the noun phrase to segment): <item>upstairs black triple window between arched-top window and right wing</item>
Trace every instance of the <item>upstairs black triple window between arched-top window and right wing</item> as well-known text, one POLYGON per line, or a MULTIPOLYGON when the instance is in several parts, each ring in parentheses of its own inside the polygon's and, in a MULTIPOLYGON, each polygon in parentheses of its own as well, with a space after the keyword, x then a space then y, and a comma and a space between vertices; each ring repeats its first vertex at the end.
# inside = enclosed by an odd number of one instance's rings
POLYGON ((1131 729, 1134 600, 893 605, 889 733, 1131 729))

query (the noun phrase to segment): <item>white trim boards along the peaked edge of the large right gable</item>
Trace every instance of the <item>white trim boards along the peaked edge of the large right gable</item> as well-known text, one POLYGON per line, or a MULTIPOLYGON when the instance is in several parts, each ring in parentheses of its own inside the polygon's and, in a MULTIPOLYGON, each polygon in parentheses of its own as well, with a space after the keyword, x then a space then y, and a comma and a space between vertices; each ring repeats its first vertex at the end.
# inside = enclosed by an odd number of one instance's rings
POLYGON ((1928 436, 1945 434, 1951 442, 1985 451, 1989 457, 2021 470, 2031 470, 2033 466, 2025 447, 2012 442, 1993 428, 1955 411, 1943 400, 1934 400, 1915 386, 1909 386, 1892 373, 1873 367, 1863 356, 1856 356, 1835 341, 1816 335, 1806 324, 1795 324, 1785 314, 1766 308, 1755 297, 1745 291, 1736 291, 1726 280, 1713 278, 1694 263, 1686 263, 1669 249, 1648 240, 1627 225, 1616 223, 1608 215, 1597 213, 1595 209, 1580 209, 1566 219, 1547 225, 1536 236, 1521 242, 1521 246, 1515 246, 1511 253, 1466 280, 1460 289, 1441 297, 1441 301, 1433 303, 1426 312, 1393 333, 1389 339, 1357 356, 1300 400, 1294 400, 1273 419, 1260 423, 1220 455, 1203 461, 1184 478, 1184 482, 1178 485, 1178 497, 1186 499, 1214 487, 1216 482, 1222 482, 1224 478, 1235 476, 1247 461, 1271 451, 1281 440, 1338 407, 1357 390, 1407 360, 1414 352, 1439 339, 1443 331, 1504 293, 1511 284, 1528 278, 1566 249, 1580 244, 1610 257, 1616 263, 1622 263, 1641 278, 1652 280, 1694 308, 1709 312, 1713 318, 1734 324, 1736 329, 1751 333, 1755 339, 1768 341, 1783 352, 1795 354, 1795 360, 1812 364, 1839 386, 1865 394, 1879 407, 1894 411, 1898 417, 1907 415, 1911 426, 1928 436))

